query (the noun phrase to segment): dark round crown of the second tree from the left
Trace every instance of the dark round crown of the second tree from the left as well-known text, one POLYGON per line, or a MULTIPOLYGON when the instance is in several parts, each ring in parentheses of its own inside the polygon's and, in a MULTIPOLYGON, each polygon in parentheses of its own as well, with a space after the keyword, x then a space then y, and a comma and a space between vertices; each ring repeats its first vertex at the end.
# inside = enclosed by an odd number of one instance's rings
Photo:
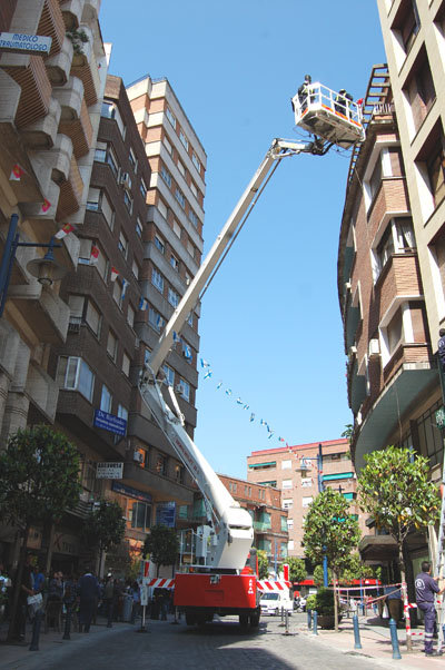
POLYGON ((121 543, 125 535, 126 522, 119 503, 101 500, 88 514, 83 526, 83 540, 90 546, 109 551, 111 546, 121 543))

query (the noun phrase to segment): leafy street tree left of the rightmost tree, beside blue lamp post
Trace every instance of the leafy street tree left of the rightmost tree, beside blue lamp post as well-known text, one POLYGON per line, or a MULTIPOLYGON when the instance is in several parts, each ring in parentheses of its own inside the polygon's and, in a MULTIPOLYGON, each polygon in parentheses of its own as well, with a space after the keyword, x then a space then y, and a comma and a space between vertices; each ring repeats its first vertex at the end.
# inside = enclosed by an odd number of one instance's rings
MULTIPOLYGON (((305 519, 303 544, 306 556, 315 564, 327 558, 334 583, 360 534, 357 520, 349 514, 349 503, 334 489, 317 495, 305 519)), ((338 630, 338 602, 334 599, 335 630, 338 630)))

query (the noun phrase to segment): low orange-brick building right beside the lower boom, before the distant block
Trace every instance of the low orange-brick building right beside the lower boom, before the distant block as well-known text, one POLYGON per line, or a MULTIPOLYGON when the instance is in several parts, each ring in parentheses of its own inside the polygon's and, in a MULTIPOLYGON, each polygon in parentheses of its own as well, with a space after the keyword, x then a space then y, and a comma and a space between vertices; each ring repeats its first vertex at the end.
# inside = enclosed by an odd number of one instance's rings
POLYGON ((281 504, 281 492, 269 485, 254 484, 218 474, 234 500, 247 510, 254 522, 254 546, 267 553, 270 566, 279 564, 288 555, 287 510, 281 504))

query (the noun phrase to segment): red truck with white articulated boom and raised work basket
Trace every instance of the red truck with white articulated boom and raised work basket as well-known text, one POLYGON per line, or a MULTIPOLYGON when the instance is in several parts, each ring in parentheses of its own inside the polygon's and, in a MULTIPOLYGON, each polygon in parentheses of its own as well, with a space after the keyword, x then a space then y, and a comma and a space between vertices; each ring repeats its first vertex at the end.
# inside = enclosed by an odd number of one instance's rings
POLYGON ((319 82, 312 83, 306 95, 296 95, 293 108, 297 128, 313 137, 303 142, 273 140, 140 375, 144 402, 199 486, 206 508, 207 523, 182 534, 181 566, 175 575, 175 605, 185 612, 187 624, 211 621, 215 614, 236 614, 241 627, 255 628, 260 617, 260 591, 255 550, 251 549, 251 516, 233 499, 187 434, 175 390, 162 377, 161 366, 174 344, 174 335, 181 331, 196 307, 281 160, 299 154, 323 156, 333 146, 347 149, 364 139, 360 107, 342 98, 339 105, 339 95, 319 82))

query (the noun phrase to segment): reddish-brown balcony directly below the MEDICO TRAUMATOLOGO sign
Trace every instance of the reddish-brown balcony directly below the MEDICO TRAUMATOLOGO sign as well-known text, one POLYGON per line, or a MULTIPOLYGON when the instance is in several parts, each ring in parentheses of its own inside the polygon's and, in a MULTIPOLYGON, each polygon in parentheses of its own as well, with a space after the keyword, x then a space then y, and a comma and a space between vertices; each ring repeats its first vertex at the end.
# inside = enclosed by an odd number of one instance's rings
POLYGON ((51 99, 51 83, 41 56, 4 53, 0 66, 21 88, 16 126, 23 128, 44 117, 51 99))

